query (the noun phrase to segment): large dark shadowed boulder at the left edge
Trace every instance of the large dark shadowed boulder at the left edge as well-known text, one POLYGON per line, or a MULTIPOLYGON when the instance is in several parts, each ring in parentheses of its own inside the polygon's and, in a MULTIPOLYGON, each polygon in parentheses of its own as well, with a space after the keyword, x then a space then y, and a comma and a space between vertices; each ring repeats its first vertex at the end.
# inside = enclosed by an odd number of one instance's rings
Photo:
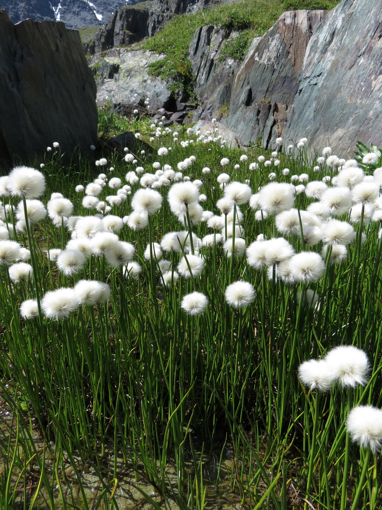
POLYGON ((28 159, 59 142, 97 141, 96 86, 78 32, 0 11, 0 160, 28 159))

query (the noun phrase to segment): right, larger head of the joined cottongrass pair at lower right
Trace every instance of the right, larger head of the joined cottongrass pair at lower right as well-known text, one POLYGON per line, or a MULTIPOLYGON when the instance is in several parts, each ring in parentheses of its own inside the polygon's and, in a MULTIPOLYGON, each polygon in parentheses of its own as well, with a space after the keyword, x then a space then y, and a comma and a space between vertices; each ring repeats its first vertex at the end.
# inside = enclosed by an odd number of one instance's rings
POLYGON ((329 351, 325 362, 342 386, 366 385, 369 360, 366 352, 352 345, 340 345, 329 351))

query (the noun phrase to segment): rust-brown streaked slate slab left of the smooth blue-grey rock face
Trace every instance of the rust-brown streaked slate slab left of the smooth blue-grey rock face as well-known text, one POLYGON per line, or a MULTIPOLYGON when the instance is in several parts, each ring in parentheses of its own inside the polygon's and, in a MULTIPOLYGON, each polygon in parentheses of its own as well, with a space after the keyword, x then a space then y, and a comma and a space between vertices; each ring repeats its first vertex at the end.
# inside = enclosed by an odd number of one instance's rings
POLYGON ((222 120, 245 145, 261 138, 267 148, 284 135, 308 42, 324 16, 325 11, 287 11, 251 45, 235 74, 229 115, 222 120))

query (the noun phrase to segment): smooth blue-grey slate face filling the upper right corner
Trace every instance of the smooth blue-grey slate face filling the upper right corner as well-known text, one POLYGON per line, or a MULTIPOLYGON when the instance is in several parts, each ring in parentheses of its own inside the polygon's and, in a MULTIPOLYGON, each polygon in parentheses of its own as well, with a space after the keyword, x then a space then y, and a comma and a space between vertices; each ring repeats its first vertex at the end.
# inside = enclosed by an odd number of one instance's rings
POLYGON ((286 139, 351 154, 382 144, 382 1, 343 0, 309 41, 286 139))

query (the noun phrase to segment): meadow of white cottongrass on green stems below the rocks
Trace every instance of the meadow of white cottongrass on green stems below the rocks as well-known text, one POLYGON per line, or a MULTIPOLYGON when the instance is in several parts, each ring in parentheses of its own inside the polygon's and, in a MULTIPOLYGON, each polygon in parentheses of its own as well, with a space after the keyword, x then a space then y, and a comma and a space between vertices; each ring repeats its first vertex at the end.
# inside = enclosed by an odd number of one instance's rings
POLYGON ((0 508, 378 508, 380 154, 148 130, 0 178, 0 508))

